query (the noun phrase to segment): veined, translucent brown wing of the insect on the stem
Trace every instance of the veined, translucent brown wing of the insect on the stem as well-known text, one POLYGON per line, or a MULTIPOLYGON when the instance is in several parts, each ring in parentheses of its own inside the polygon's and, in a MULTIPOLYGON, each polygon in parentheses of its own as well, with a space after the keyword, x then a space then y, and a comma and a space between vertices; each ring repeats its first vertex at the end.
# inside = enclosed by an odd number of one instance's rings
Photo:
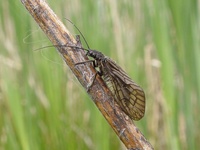
POLYGON ((133 120, 140 120, 145 113, 145 94, 113 60, 103 64, 104 79, 122 110, 133 120))

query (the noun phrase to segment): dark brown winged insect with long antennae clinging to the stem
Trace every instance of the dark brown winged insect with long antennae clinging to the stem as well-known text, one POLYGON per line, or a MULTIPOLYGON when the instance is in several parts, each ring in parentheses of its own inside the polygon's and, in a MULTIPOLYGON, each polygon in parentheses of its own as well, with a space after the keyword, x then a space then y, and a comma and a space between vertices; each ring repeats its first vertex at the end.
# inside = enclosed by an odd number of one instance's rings
MULTIPOLYGON (((68 21, 72 23, 70 20, 68 21)), ((83 37, 88 49, 77 46, 68 47, 74 47, 87 51, 86 55, 94 59, 89 62, 93 63, 94 68, 99 68, 97 73, 103 78, 106 85, 112 92, 116 103, 131 119, 140 120, 145 113, 145 94, 143 89, 134 81, 132 81, 127 73, 112 59, 108 58, 97 50, 90 49, 81 31, 74 23, 72 24, 83 37)), ((80 62, 76 65, 83 63, 86 62, 80 62)))

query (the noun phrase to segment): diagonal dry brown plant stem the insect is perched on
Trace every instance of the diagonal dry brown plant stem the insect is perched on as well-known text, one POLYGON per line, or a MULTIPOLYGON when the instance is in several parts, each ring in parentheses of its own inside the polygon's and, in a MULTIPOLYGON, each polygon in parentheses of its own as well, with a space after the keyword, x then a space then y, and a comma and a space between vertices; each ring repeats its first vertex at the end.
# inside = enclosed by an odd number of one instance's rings
MULTIPOLYGON (((51 40, 53 45, 76 45, 81 46, 65 28, 54 12, 49 8, 44 0, 21 0, 23 5, 51 40)), ((57 47, 66 64, 70 67, 74 75, 80 81, 81 85, 87 89, 95 75, 95 69, 91 64, 82 64, 75 66, 77 62, 88 60, 84 52, 65 46, 57 47)), ((114 104, 113 96, 110 90, 105 86, 103 80, 97 75, 94 84, 88 91, 92 100, 99 108, 103 116, 111 125, 113 130, 125 144, 127 149, 131 150, 152 150, 153 147, 141 134, 133 121, 124 112, 114 104)))

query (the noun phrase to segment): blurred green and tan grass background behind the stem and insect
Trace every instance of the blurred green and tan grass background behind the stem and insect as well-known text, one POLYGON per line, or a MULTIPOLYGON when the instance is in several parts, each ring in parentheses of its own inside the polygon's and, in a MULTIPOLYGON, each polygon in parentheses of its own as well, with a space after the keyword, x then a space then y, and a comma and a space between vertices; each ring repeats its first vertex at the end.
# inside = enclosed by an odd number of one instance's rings
MULTIPOLYGON (((200 1, 47 2, 143 87, 155 149, 200 148, 200 1)), ((0 45, 0 150, 125 149, 20 0, 0 0, 0 45)))

